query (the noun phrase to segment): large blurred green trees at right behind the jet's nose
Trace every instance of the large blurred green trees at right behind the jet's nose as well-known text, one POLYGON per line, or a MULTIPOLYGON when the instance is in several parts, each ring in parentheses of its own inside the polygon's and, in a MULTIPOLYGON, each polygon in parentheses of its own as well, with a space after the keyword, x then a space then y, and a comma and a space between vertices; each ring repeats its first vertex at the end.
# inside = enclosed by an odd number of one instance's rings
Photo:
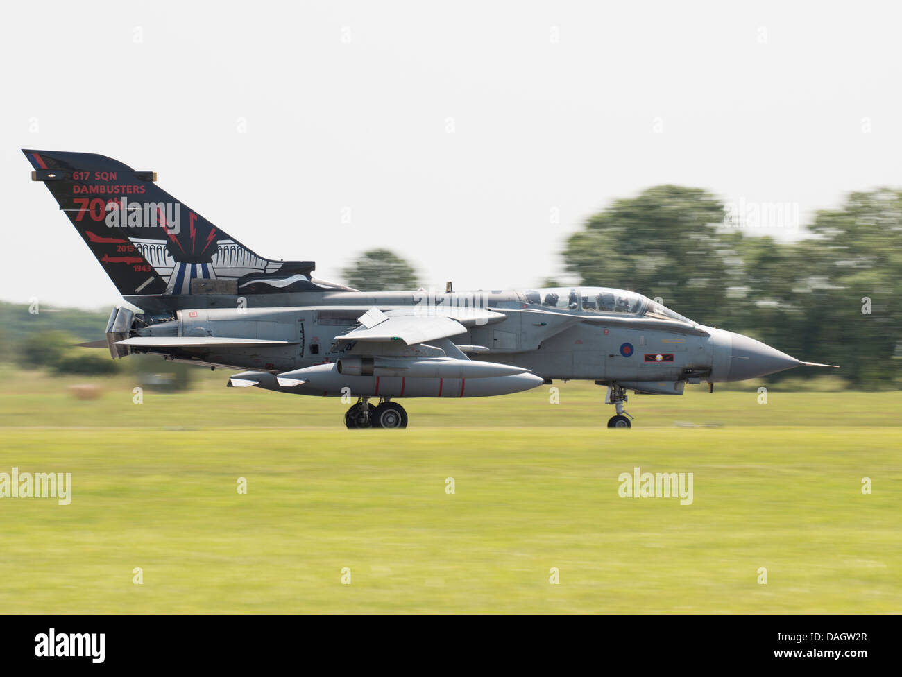
POLYGON ((584 285, 661 297, 800 360, 839 364, 855 387, 897 387, 902 191, 852 193, 793 242, 756 235, 731 212, 700 188, 649 188, 589 217, 566 242, 566 270, 584 285))

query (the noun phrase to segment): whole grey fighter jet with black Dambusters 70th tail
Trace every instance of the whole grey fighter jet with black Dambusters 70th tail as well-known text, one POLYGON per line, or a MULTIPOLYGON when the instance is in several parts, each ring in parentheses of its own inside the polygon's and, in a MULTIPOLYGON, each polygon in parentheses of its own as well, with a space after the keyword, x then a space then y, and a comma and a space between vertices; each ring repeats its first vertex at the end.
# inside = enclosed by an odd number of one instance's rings
POLYGON ((119 293, 114 359, 161 355, 243 370, 233 387, 348 397, 349 428, 405 427, 403 398, 479 398, 584 379, 680 395, 799 365, 748 336, 698 325, 632 291, 567 287, 361 292, 313 277, 313 261, 252 252, 135 171, 93 153, 23 151, 119 293), (373 404, 378 402, 378 405, 373 404))

